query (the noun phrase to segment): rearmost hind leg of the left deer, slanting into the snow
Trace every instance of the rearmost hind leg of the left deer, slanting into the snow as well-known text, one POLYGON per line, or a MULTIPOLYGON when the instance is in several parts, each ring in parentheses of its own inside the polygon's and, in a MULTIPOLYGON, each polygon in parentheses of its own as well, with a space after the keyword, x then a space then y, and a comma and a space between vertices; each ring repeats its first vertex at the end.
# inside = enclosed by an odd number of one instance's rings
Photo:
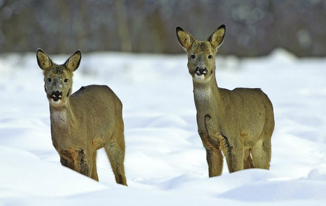
POLYGON ((125 142, 123 130, 115 132, 108 144, 104 146, 104 149, 110 161, 116 182, 121 185, 127 185, 124 173, 125 142))

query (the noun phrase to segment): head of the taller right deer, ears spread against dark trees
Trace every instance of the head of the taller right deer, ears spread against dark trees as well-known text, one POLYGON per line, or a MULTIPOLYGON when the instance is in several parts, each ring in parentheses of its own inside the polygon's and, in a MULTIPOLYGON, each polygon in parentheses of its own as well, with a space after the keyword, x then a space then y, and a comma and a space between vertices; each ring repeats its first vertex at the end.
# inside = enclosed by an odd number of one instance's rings
POLYGON ((225 25, 222 24, 207 39, 198 41, 181 27, 176 28, 179 44, 188 53, 188 69, 196 82, 206 82, 215 75, 215 54, 223 43, 225 25))

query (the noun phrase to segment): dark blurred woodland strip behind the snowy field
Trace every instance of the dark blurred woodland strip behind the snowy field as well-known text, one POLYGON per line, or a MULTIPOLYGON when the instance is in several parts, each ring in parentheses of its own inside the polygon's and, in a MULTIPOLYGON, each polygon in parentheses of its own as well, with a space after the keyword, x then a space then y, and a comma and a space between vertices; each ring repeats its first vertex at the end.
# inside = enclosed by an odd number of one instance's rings
POLYGON ((324 0, 0 0, 0 53, 176 54, 176 26, 206 40, 223 23, 221 55, 326 56, 324 0))

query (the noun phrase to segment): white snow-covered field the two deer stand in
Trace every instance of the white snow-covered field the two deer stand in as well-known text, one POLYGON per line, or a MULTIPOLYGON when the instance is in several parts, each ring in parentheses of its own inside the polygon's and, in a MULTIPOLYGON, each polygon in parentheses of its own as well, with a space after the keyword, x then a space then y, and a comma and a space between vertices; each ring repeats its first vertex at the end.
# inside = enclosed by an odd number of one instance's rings
MULTIPOLYGON (((69 55, 50 57, 64 63, 69 55)), ((276 125, 269 171, 230 174, 225 163, 222 176, 208 178, 186 58, 83 54, 73 90, 104 84, 123 102, 124 187, 104 150, 99 183, 61 166, 35 53, 0 55, 0 205, 325 205, 326 59, 280 49, 263 58, 217 57, 218 85, 262 88, 276 125)))

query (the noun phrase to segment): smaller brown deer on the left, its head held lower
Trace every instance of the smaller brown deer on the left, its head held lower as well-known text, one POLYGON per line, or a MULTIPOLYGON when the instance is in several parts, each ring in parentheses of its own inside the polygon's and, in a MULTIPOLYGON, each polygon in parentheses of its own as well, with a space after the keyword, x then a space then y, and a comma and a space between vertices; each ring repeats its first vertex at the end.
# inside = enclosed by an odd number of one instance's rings
POLYGON ((105 85, 83 86, 71 92, 73 72, 82 59, 80 50, 60 65, 53 63, 40 48, 36 57, 43 70, 51 139, 60 163, 98 181, 97 150, 104 147, 116 182, 127 186, 124 122, 118 96, 105 85))

